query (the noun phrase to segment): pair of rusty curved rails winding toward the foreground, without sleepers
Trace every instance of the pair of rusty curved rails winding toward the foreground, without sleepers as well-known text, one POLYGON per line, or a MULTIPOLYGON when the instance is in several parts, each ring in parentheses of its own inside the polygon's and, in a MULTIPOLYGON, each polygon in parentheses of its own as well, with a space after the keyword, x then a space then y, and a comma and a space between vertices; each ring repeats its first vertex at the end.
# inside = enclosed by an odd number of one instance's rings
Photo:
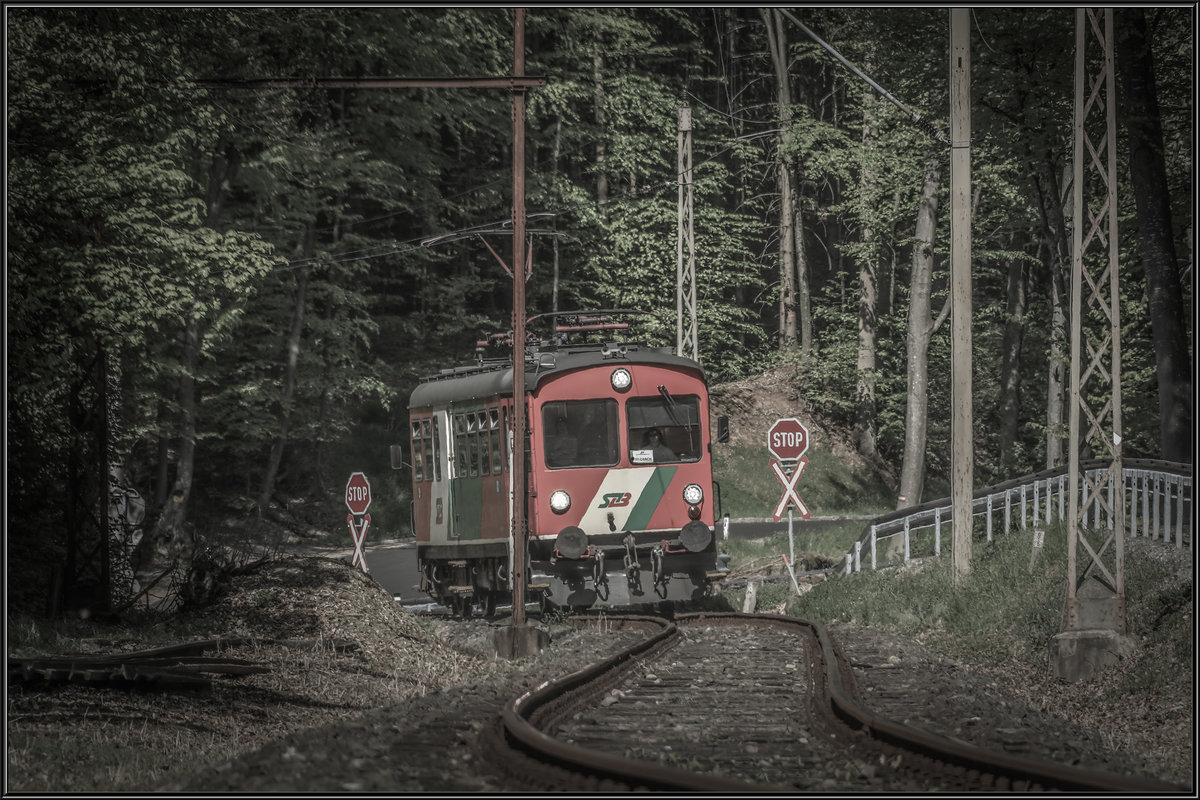
MULTIPOLYGON (((599 618, 581 618, 590 624, 599 618)), ((544 681, 511 700, 500 714, 506 746, 540 763, 552 764, 601 786, 623 786, 650 790, 692 792, 794 792, 793 787, 749 783, 713 774, 695 774, 644 760, 632 760, 566 744, 545 733, 580 705, 598 698, 619 682, 640 662, 653 660, 679 639, 679 626, 762 625, 790 630, 811 638, 824 666, 817 675, 822 690, 820 704, 842 724, 877 741, 918 753, 949 769, 1003 777, 1026 789, 1078 792, 1181 792, 1182 787, 1134 776, 1084 770, 1038 758, 985 750, 901 724, 870 711, 852 691, 853 676, 824 626, 770 614, 695 613, 680 614, 674 622, 652 616, 606 616, 604 624, 643 626, 655 632, 647 639, 590 667, 563 678, 544 681)))

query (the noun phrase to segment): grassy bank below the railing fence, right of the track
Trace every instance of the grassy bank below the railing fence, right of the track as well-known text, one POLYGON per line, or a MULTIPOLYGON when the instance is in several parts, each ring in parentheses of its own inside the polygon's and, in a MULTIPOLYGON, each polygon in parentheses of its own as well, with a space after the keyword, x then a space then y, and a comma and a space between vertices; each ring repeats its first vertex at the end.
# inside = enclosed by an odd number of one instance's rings
MULTIPOLYGON (((862 527, 797 541, 797 563, 822 553, 840 555, 862 527)), ((1102 674, 1069 685, 1054 678, 1051 638, 1064 630, 1067 530, 1046 529, 1034 552, 1028 531, 977 537, 971 571, 955 587, 950 558, 911 561, 902 567, 864 570, 802 584, 775 579, 757 587, 757 609, 823 624, 865 626, 912 637, 965 668, 990 675, 1031 708, 1079 721, 1106 744, 1145 754, 1164 774, 1192 783, 1195 698, 1194 589, 1192 554, 1145 539, 1126 540, 1127 633, 1133 656, 1102 674)), ((786 534, 727 542, 739 566, 787 553, 786 534)), ((776 572, 776 575, 779 575, 776 572)), ((740 609, 745 588, 722 601, 740 609)))

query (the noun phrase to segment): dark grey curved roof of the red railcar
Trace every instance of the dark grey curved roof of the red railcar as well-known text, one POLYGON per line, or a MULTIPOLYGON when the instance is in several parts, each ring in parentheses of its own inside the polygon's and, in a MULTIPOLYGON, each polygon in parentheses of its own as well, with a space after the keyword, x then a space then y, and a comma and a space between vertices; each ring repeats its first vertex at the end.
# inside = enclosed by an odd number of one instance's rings
MULTIPOLYGON (((704 379, 703 367, 691 359, 676 355, 672 348, 643 344, 564 347, 530 350, 526 354, 526 391, 532 392, 547 378, 571 369, 596 365, 611 365, 616 368, 623 363, 694 369, 704 379)), ((512 395, 512 366, 509 362, 455 367, 422 378, 413 390, 408 408, 430 408, 498 395, 512 395)))

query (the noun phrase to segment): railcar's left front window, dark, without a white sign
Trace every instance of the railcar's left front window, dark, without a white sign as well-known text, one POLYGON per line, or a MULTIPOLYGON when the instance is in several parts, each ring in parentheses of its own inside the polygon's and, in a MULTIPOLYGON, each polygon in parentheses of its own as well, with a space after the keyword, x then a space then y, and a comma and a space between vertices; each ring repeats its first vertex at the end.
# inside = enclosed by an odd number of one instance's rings
POLYGON ((541 409, 546 465, 613 467, 619 452, 617 401, 562 401, 541 409))

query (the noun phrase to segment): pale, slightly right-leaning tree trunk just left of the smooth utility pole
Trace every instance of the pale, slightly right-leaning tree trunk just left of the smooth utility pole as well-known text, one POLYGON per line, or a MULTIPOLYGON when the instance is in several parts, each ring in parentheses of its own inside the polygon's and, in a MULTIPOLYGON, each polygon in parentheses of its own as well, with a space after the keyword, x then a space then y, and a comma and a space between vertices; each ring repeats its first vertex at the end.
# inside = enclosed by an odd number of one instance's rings
POLYGON ((918 505, 925 485, 925 431, 929 415, 930 285, 934 275, 934 234, 937 229, 937 190, 941 172, 936 157, 925 162, 925 179, 917 211, 912 248, 912 291, 908 297, 908 403, 904 426, 904 467, 896 507, 918 505))

